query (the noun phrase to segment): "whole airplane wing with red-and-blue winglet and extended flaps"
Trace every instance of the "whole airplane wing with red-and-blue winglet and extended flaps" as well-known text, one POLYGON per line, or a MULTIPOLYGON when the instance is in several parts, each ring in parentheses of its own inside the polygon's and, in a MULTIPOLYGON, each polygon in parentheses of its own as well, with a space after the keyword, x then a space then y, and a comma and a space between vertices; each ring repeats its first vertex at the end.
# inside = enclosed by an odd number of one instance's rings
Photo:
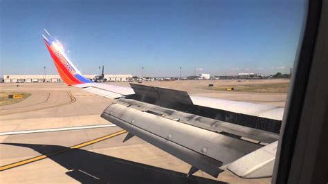
POLYGON ((272 175, 284 108, 199 96, 185 91, 91 82, 47 33, 44 43, 62 80, 116 99, 101 117, 217 177, 225 169, 243 178, 272 175))

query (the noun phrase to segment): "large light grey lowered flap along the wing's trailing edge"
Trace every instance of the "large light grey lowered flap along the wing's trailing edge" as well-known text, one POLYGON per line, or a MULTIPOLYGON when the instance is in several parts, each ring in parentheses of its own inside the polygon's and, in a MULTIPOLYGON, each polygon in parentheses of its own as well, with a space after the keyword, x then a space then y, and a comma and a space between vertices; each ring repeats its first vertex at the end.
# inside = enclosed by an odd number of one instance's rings
POLYGON ((220 172, 219 166, 222 164, 233 162, 262 147, 165 118, 151 110, 134 109, 118 101, 105 109, 102 118, 212 176, 220 172))

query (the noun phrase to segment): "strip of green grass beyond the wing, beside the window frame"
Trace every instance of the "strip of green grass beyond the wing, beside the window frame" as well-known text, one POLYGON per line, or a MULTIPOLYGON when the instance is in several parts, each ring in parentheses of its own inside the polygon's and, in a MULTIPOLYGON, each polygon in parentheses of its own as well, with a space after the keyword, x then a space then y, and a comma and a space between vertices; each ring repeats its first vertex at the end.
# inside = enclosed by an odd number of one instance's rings
POLYGON ((272 83, 272 84, 240 84, 233 86, 208 86, 205 89, 215 91, 226 91, 226 88, 233 87, 233 91, 254 92, 254 93, 287 93, 289 83, 272 83))

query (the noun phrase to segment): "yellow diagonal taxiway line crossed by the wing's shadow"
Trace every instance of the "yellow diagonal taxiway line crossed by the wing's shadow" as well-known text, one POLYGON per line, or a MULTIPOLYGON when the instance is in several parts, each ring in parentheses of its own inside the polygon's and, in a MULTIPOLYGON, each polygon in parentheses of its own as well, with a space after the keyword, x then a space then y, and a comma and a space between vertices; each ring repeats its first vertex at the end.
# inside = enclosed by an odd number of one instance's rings
POLYGON ((95 144, 97 142, 100 142, 102 140, 107 140, 109 138, 113 138, 115 136, 119 136, 120 134, 125 134, 126 132, 127 132, 126 130, 121 130, 121 131, 118 131, 116 133, 109 134, 107 136, 103 136, 103 137, 100 137, 100 138, 89 140, 88 142, 83 142, 83 143, 81 143, 79 145, 75 145, 75 146, 69 147, 68 149, 62 149, 60 151, 55 151, 55 152, 53 152, 51 154, 44 154, 44 155, 40 155, 40 156, 35 156, 33 158, 28 158, 26 160, 18 161, 16 163, 11 163, 11 164, 8 164, 8 165, 3 165, 3 166, 0 167, 0 172, 4 171, 6 169, 12 169, 14 167, 18 167, 18 166, 25 165, 25 164, 28 164, 28 163, 33 163, 33 162, 35 162, 37 160, 43 160, 44 158, 50 158, 51 156, 55 156, 57 154, 62 154, 64 152, 71 151, 73 149, 79 149, 81 147, 86 147, 86 146, 95 144))

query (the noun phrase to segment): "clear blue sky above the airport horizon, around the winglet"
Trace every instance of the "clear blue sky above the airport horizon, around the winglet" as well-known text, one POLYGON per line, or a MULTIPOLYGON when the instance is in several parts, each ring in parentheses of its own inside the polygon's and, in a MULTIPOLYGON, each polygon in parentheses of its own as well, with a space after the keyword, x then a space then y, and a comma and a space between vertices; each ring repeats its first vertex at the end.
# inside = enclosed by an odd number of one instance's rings
POLYGON ((84 74, 288 73, 304 1, 0 0, 0 75, 55 74, 44 28, 84 74))

